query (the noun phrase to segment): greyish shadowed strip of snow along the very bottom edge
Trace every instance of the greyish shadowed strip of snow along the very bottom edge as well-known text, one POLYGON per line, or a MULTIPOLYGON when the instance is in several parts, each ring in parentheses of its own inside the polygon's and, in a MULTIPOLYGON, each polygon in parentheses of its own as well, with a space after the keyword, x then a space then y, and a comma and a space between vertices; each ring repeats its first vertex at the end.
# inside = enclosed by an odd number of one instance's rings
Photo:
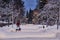
POLYGON ((60 38, 10 38, 0 40, 60 40, 60 38))

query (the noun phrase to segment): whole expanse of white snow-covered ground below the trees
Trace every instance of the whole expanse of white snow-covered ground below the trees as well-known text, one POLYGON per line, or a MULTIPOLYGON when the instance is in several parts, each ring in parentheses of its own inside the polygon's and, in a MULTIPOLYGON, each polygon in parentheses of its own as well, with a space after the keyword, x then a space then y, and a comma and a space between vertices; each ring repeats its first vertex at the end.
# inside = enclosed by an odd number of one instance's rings
POLYGON ((4 26, 0 28, 0 38, 54 38, 56 37, 56 34, 60 30, 57 30, 57 25, 54 26, 48 26, 44 25, 45 28, 43 29, 43 25, 33 25, 33 24, 26 24, 26 25, 20 25, 21 31, 16 32, 15 29, 17 26, 14 24, 12 25, 4 26))

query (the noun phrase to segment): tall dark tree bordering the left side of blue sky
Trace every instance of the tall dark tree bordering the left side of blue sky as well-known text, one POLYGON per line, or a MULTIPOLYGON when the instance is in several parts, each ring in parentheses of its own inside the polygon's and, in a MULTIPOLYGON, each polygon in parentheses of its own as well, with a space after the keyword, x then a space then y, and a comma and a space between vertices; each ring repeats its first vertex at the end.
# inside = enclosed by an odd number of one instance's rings
POLYGON ((19 20, 23 21, 24 17, 24 2, 22 0, 14 0, 14 9, 18 12, 18 18, 19 20))

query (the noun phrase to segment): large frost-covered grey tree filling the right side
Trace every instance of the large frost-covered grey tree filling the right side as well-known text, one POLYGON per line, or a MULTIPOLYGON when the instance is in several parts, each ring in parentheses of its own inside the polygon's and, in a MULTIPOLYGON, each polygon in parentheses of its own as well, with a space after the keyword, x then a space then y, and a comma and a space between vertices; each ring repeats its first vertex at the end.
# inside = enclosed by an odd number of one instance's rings
POLYGON ((47 25, 49 24, 52 25, 52 23, 57 24, 56 21, 58 20, 59 16, 58 14, 59 14, 59 0, 48 0, 48 3, 45 4, 45 6, 40 12, 42 18, 44 18, 43 15, 47 17, 47 21, 45 22, 47 23, 47 25))

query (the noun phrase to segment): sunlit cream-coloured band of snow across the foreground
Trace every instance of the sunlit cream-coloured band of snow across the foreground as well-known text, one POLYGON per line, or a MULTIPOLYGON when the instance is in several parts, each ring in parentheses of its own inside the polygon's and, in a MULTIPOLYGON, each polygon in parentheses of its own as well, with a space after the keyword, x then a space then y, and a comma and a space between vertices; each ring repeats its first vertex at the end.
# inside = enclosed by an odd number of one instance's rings
POLYGON ((35 37, 37 37, 37 38, 42 38, 42 37, 46 37, 46 38, 54 38, 54 37, 56 37, 56 34, 54 34, 54 33, 34 33, 34 32, 30 32, 30 33, 23 33, 23 32, 21 32, 21 33, 3 33, 3 34, 1 34, 0 33, 0 39, 1 38, 4 38, 4 39, 6 39, 6 38, 35 38, 35 37))

